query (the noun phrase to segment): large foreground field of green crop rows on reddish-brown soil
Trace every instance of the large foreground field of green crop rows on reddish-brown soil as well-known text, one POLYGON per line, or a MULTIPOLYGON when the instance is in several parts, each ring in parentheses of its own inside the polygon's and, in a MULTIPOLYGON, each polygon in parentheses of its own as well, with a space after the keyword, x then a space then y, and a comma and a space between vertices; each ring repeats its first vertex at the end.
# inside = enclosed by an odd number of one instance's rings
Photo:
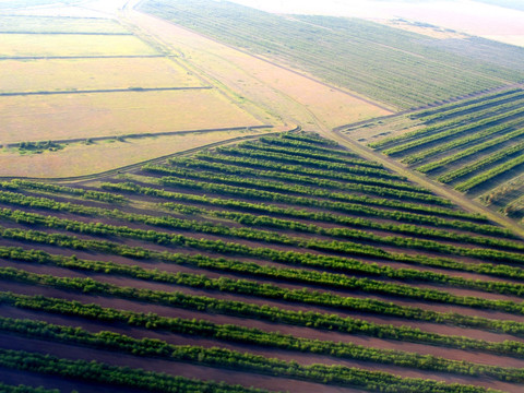
POLYGON ((2 182, 0 206, 8 383, 524 388, 522 240, 313 134, 2 182))

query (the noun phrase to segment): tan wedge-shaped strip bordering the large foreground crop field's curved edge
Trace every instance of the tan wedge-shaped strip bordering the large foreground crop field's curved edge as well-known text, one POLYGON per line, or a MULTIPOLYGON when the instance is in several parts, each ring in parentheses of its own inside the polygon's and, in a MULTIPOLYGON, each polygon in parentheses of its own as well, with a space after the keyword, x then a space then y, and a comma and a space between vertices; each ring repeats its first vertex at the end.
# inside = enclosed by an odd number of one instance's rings
POLYGON ((62 151, 31 155, 0 152, 0 176, 48 178, 91 175, 237 136, 264 132, 271 130, 217 131, 129 139, 112 143, 106 141, 91 145, 75 143, 62 151))

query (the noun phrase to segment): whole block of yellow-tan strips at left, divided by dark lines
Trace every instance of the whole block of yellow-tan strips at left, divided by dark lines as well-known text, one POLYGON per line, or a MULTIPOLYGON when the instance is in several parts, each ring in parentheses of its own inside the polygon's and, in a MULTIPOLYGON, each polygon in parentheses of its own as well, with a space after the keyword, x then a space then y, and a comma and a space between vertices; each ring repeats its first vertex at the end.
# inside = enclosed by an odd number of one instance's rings
POLYGON ((99 172, 276 124, 115 20, 0 16, 0 176, 99 172))

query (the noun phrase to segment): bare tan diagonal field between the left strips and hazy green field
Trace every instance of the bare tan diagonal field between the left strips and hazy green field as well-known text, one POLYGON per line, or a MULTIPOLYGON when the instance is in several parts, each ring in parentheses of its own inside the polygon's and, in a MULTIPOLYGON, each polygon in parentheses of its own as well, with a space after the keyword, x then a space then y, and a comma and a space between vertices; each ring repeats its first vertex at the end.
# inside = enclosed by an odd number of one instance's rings
POLYGON ((335 91, 159 19, 135 11, 129 11, 127 16, 150 36, 181 52, 190 67, 219 81, 246 110, 258 106, 287 127, 330 129, 389 112, 350 93, 335 91))

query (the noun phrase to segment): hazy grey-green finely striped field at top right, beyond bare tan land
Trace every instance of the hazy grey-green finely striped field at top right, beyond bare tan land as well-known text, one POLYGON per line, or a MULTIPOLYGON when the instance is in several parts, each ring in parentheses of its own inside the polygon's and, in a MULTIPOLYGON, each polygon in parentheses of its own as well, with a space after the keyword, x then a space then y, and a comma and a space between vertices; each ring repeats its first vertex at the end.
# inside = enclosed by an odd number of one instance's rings
POLYGON ((140 9, 397 108, 524 80, 524 51, 487 40, 455 43, 366 21, 275 15, 211 0, 147 1, 140 9))

